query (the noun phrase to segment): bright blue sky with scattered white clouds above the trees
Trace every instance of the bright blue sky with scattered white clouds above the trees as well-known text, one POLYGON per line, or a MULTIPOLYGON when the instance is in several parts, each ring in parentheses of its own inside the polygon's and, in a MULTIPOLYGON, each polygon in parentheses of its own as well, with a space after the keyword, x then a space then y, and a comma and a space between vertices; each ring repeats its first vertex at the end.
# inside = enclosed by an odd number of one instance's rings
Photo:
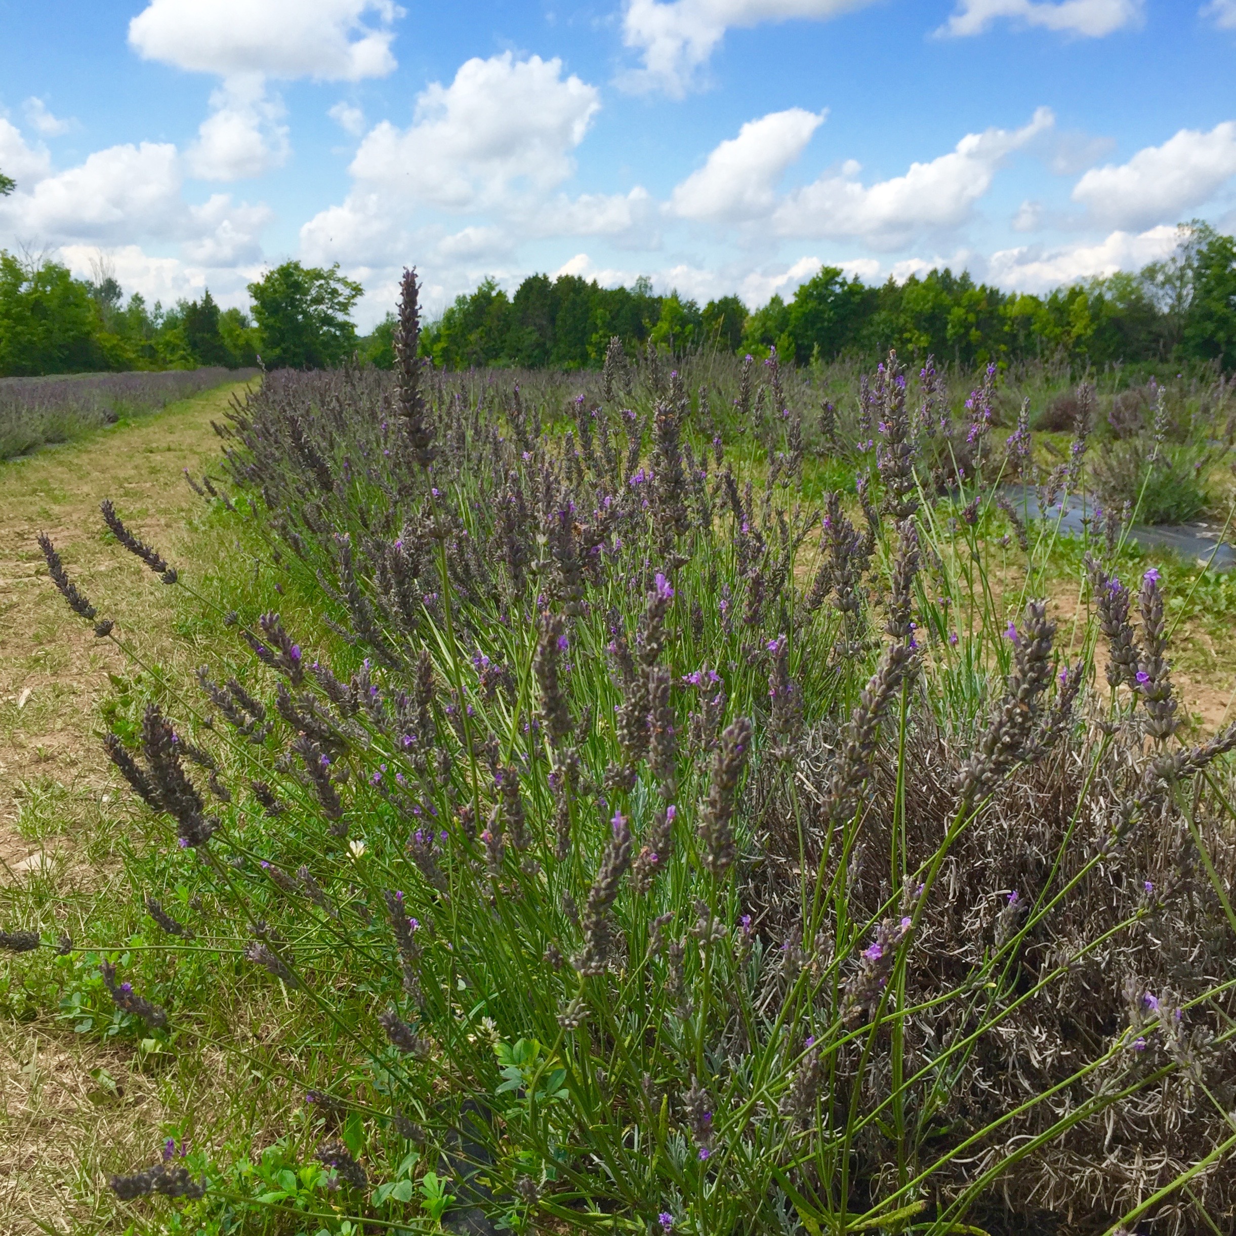
POLYGON ((1236 227, 1236 0, 0 0, 0 246, 361 320, 533 271, 1004 287, 1236 227))

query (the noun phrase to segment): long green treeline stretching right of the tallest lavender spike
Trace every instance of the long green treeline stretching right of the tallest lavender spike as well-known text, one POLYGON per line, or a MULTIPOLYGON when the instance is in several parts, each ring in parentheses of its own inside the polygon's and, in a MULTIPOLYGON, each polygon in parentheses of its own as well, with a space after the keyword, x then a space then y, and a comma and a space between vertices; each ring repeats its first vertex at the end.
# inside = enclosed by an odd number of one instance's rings
MULTIPOLYGON (((371 337, 377 363, 389 362, 392 326, 388 319, 371 337)), ((486 279, 425 330, 423 347, 447 368, 595 368, 613 335, 632 352, 651 342, 761 357, 775 346, 782 361, 800 365, 870 361, 896 347, 964 367, 1059 357, 1083 367, 1217 361, 1232 370, 1236 241, 1206 224, 1183 225, 1166 261, 1046 297, 1002 292, 949 269, 871 287, 826 266, 791 300, 772 297, 754 311, 737 295, 702 308, 676 292, 658 297, 646 279, 602 288, 576 276, 534 274, 513 295, 486 279)))

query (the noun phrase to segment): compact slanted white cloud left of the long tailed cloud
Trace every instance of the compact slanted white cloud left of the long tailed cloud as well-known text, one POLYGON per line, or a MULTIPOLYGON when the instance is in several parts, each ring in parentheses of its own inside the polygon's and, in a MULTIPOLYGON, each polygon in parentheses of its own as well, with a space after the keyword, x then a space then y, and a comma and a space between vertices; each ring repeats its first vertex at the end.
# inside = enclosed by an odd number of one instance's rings
POLYGON ((791 108, 749 120, 679 184, 670 211, 682 219, 739 220, 768 215, 777 182, 798 158, 823 115, 791 108))

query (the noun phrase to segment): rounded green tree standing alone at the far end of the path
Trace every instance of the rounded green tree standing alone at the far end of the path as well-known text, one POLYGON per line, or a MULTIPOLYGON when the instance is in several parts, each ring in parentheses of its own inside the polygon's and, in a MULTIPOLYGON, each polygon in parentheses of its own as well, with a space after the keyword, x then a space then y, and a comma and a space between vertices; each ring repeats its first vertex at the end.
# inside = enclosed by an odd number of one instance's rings
POLYGON ((363 288, 330 269, 284 262, 248 286, 267 368, 320 370, 356 346, 351 313, 363 288))

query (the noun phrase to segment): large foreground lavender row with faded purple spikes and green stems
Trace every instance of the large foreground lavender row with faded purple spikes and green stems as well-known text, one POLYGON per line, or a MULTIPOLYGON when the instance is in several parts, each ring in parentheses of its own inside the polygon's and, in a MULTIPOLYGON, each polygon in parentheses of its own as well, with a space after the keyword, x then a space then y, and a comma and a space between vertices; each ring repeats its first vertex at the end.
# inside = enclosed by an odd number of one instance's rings
POLYGON ((309 1116, 116 1193, 211 1232, 1229 1229, 1236 727, 1184 740, 1119 533, 1065 655, 994 375, 957 408, 890 357, 838 414, 612 350, 567 398, 424 367, 415 294, 393 376, 274 373, 224 430, 210 501, 288 599, 222 616, 261 675, 108 739, 182 960, 100 999, 157 1036, 185 958, 277 985, 253 1067, 309 1116), (810 501, 816 451, 853 497, 810 501))

